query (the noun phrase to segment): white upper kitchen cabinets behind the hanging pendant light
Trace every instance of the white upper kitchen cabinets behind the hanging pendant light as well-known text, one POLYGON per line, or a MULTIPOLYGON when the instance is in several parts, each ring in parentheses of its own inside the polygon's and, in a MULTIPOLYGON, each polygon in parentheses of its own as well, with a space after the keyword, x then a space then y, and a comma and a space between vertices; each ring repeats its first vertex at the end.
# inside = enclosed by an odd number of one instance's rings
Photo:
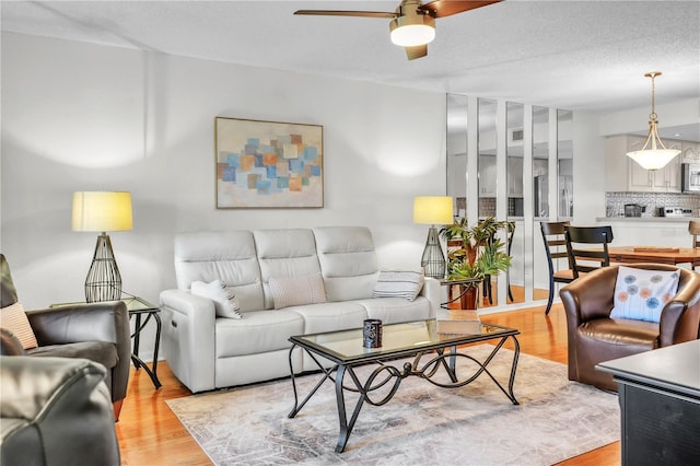
MULTIPOLYGON (((641 193, 680 193, 680 156, 656 171, 642 168, 627 152, 644 145, 642 136, 615 136, 606 140, 606 190, 641 193)), ((668 149, 680 150, 680 141, 665 141, 668 149)))

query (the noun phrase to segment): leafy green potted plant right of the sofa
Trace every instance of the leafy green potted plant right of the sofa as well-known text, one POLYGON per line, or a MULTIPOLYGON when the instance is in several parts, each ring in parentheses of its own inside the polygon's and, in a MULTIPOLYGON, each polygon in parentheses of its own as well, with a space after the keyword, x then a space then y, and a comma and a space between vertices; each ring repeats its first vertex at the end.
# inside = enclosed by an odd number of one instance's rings
POLYGON ((488 217, 469 226, 466 219, 455 219, 444 225, 440 234, 447 241, 447 279, 475 279, 465 284, 463 307, 476 308, 479 283, 485 277, 508 271, 511 256, 505 244, 497 237, 499 230, 510 230, 512 222, 497 221, 488 217))

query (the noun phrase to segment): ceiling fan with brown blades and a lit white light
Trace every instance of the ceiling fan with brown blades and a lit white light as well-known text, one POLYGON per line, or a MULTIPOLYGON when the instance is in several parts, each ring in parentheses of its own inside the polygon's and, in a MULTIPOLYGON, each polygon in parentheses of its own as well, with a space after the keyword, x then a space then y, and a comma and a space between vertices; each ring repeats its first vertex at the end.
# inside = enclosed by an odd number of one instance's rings
POLYGON ((392 42, 406 48, 409 60, 428 55, 428 44, 435 38, 435 19, 464 13, 501 0, 463 1, 433 0, 423 3, 421 0, 402 0, 395 12, 383 11, 342 11, 342 10, 298 10, 294 14, 319 16, 363 16, 386 18, 392 20, 389 31, 392 42))

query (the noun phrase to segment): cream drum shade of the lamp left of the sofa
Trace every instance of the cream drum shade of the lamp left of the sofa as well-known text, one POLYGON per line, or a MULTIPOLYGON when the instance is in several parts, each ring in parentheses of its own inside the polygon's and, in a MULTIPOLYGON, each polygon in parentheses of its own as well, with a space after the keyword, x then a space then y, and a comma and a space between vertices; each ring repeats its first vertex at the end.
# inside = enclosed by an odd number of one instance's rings
POLYGON ((114 232, 132 228, 131 193, 73 193, 73 231, 114 232))

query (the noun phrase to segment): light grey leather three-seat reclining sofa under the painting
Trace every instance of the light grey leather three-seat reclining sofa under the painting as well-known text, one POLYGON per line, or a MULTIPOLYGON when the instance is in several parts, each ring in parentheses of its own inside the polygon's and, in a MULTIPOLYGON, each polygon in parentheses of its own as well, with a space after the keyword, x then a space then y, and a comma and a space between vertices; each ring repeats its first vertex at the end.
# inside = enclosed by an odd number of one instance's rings
MULTIPOLYGON (((440 308, 430 278, 415 301, 372 298, 380 268, 363 226, 182 233, 175 273, 177 289, 161 293, 164 356, 194 393, 289 376, 293 335, 432 318, 440 308), (315 273, 327 302, 275 308, 270 278, 315 273), (232 287, 243 318, 217 317, 211 299, 189 291, 217 279, 232 287)), ((318 369, 299 348, 291 358, 295 373, 318 369)))

